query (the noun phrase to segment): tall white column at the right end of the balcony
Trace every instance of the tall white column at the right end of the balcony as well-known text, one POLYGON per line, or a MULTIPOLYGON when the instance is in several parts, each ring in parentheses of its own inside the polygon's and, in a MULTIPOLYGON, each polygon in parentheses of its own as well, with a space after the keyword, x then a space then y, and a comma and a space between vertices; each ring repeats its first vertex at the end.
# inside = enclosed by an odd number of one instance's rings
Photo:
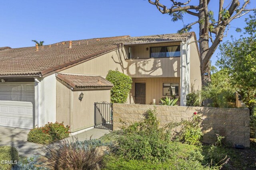
MULTIPOLYGON (((189 40, 188 40, 189 41, 189 40)), ((190 45, 180 43, 180 105, 186 106, 186 95, 190 88, 190 45)))

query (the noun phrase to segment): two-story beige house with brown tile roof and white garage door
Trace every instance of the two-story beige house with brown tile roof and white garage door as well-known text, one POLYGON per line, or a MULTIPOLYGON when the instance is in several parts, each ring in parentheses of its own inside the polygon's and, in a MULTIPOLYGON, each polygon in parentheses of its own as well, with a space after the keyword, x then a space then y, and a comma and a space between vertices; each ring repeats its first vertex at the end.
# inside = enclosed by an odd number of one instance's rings
POLYGON ((1 47, 0 126, 93 127, 94 102, 110 102, 108 70, 132 77, 130 104, 159 104, 169 96, 186 105, 186 94, 201 88, 194 32, 1 47))

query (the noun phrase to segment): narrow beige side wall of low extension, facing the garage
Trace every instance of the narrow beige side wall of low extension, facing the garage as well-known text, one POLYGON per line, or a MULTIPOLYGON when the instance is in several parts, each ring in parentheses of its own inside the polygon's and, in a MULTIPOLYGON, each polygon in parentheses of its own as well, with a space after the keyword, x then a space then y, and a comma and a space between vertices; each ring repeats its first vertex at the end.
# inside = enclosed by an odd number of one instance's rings
POLYGON ((57 82, 57 111, 56 121, 64 122, 64 125, 70 125, 70 89, 59 81, 57 82))

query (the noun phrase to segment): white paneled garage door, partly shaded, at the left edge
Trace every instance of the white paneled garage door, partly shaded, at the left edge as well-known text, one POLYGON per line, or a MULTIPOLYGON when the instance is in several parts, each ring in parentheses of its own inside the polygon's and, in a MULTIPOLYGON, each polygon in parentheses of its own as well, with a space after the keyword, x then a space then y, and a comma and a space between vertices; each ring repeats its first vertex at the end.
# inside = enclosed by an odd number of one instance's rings
POLYGON ((0 126, 33 128, 34 83, 0 83, 0 126))

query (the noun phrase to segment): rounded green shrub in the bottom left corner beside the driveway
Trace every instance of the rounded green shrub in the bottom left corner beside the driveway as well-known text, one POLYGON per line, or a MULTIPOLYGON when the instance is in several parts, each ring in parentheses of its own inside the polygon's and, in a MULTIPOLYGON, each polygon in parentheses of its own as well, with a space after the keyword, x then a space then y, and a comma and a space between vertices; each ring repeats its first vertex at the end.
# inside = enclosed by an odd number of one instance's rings
POLYGON ((9 161, 6 164, 0 164, 1 170, 10 170, 12 166, 18 163, 18 150, 13 146, 0 146, 0 161, 9 161))

